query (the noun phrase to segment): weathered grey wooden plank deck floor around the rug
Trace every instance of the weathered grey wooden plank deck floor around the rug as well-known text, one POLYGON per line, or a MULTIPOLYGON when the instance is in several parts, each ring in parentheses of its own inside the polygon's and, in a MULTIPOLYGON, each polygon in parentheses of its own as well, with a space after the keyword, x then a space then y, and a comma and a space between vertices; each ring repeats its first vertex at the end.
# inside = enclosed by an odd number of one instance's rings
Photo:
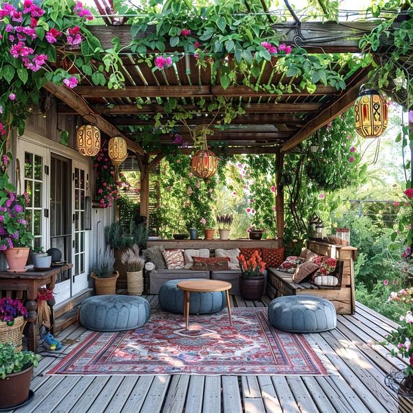
MULTIPOLYGON (((157 296, 147 296, 158 306, 157 296)), ((234 306, 266 306, 233 296, 234 306)), ((336 330, 315 335, 337 368, 328 377, 284 376, 45 376, 57 361, 44 357, 32 380, 34 399, 19 413, 238 413, 238 412, 396 412, 397 396, 384 384, 385 374, 405 361, 386 348, 366 343, 382 340, 396 324, 357 304, 355 315, 339 315, 336 330)), ((87 335, 72 325, 59 339, 87 335)), ((65 348, 65 352, 72 349, 65 348)))

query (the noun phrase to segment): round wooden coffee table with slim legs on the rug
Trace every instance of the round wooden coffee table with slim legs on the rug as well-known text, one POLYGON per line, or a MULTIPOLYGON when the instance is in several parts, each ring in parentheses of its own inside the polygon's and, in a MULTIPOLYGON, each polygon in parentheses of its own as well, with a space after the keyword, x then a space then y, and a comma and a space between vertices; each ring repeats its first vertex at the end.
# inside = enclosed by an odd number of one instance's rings
POLYGON ((231 283, 226 281, 218 281, 217 279, 189 279, 187 281, 178 282, 176 285, 184 292, 184 317, 185 328, 188 330, 189 324, 189 294, 190 293, 215 293, 218 291, 225 291, 226 307, 228 308, 229 324, 232 327, 231 318, 231 303, 229 301, 229 290, 231 283))

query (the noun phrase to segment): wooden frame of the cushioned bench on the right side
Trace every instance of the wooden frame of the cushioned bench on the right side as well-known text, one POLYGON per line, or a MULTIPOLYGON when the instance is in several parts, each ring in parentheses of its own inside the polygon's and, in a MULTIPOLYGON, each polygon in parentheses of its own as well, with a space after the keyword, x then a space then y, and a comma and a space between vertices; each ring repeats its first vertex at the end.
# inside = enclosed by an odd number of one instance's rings
POLYGON ((354 260, 357 248, 310 241, 307 248, 319 255, 328 255, 339 260, 342 279, 341 287, 319 287, 309 282, 297 284, 293 275, 268 268, 267 294, 271 299, 283 295, 317 295, 334 304, 338 314, 354 314, 354 260))

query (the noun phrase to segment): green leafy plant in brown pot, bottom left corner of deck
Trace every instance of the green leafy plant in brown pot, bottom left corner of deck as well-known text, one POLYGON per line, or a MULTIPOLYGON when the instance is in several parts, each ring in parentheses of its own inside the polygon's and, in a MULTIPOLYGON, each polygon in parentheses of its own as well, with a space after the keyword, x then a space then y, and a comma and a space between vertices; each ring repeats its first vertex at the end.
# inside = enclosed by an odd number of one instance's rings
POLYGON ((18 406, 29 398, 33 367, 40 359, 40 354, 0 343, 0 409, 18 406))

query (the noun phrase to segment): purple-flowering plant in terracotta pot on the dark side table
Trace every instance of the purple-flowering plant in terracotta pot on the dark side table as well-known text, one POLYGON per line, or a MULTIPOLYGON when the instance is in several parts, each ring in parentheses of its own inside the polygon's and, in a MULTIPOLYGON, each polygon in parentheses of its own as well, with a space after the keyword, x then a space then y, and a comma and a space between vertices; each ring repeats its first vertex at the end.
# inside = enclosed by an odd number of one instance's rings
POLYGON ((34 239, 26 229, 25 204, 29 198, 8 189, 0 189, 0 198, 5 200, 0 207, 0 251, 6 255, 8 271, 24 273, 34 239))

